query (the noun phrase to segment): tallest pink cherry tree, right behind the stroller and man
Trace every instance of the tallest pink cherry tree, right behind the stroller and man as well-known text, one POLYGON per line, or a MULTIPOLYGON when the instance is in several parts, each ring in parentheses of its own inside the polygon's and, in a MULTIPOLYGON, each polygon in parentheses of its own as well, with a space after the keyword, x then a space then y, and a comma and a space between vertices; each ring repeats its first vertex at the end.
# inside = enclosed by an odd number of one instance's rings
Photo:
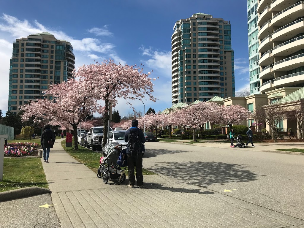
POLYGON ((118 98, 135 99, 147 96, 155 102, 152 95, 154 85, 152 78, 149 78, 150 74, 151 72, 144 74, 143 68, 136 65, 116 64, 111 59, 102 63, 83 65, 74 72, 75 77, 83 78, 85 88, 94 93, 98 100, 105 102, 105 106, 98 110, 104 115, 103 143, 107 141, 109 107, 115 107, 118 98))

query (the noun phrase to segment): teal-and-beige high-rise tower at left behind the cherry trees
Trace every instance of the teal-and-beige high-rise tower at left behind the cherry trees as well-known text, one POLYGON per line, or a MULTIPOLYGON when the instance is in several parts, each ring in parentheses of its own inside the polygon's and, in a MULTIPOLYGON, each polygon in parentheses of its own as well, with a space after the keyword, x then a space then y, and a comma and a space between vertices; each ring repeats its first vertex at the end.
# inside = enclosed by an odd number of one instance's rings
POLYGON ((48 85, 72 78, 75 56, 71 43, 57 40, 50 33, 37 33, 13 43, 9 70, 9 108, 17 114, 18 106, 29 100, 53 99, 43 96, 48 85))

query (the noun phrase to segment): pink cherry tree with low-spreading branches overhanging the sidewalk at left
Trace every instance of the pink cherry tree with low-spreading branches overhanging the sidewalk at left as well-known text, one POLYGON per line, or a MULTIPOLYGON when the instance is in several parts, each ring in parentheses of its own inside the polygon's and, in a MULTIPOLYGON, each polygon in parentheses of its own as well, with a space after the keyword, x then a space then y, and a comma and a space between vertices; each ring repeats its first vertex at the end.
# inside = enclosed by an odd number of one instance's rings
POLYGON ((78 149, 77 127, 81 120, 92 112, 100 111, 95 94, 83 80, 69 79, 56 85, 50 85, 45 95, 54 96, 53 100, 38 99, 21 106, 24 111, 22 121, 35 116, 34 121, 50 120, 52 125, 60 125, 74 130, 74 148, 78 149))

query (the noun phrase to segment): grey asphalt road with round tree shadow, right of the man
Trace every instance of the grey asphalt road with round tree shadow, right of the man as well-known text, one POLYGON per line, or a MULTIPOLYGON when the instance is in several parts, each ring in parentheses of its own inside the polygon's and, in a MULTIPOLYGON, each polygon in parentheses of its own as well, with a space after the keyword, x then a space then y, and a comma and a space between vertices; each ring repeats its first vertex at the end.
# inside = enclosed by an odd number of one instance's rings
POLYGON ((304 156, 253 151, 250 147, 223 149, 155 142, 145 145, 144 168, 180 183, 304 219, 304 156))

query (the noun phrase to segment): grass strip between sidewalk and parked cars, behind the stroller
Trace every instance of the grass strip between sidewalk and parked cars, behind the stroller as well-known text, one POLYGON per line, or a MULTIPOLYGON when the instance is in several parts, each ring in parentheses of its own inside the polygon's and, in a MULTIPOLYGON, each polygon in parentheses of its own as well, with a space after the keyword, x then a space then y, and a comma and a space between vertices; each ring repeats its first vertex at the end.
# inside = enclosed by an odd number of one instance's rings
MULTIPOLYGON (((73 157, 74 159, 81 162, 82 164, 93 170, 95 173, 97 173, 100 157, 102 157, 102 154, 89 150, 86 147, 80 148, 80 145, 78 145, 78 150, 74 150, 74 143, 72 143, 72 147, 65 147, 65 140, 62 140, 61 145, 64 148, 64 150, 69 155, 71 155, 71 157, 73 157)), ((125 173, 126 175, 128 174, 127 167, 125 173)), ((150 174, 155 174, 155 173, 143 168, 143 175, 150 175, 150 174)))

